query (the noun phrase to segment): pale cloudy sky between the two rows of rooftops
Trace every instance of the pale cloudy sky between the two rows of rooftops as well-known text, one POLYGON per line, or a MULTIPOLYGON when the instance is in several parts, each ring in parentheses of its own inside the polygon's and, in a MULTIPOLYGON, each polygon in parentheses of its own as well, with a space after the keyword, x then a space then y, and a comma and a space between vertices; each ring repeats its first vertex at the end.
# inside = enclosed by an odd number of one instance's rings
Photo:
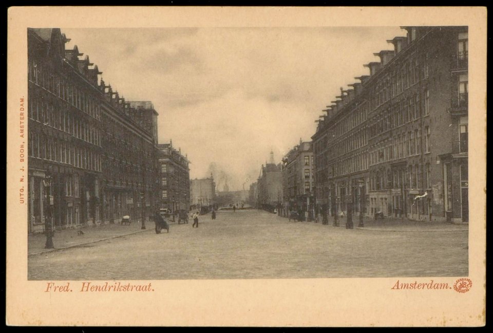
POLYGON ((340 87, 392 49, 399 27, 64 29, 126 100, 152 101, 159 142, 191 178, 248 189, 260 166, 310 140, 340 87), (246 179, 249 182, 245 183, 246 179))

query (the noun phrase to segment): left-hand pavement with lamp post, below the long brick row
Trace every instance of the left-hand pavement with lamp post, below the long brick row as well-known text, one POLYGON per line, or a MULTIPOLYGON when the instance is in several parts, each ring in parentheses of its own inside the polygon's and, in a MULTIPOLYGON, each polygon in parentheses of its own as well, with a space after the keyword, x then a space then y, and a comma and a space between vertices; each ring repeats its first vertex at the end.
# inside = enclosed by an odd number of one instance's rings
POLYGON ((130 225, 125 226, 107 224, 55 231, 53 235, 54 249, 45 249, 46 235, 44 233, 29 234, 27 239, 27 254, 28 256, 38 255, 144 231, 154 232, 154 221, 146 221, 145 230, 142 230, 141 226, 139 221, 132 221, 130 225), (79 234, 79 231, 82 231, 83 234, 79 234))

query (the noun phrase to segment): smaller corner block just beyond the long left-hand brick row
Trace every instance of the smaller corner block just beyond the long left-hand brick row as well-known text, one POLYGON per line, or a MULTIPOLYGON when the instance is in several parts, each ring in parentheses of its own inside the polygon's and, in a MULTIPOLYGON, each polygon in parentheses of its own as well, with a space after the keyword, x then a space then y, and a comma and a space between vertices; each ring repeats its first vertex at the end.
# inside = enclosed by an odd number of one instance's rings
POLYGON ((160 208, 171 212, 186 210, 190 207, 190 169, 186 155, 176 150, 173 142, 158 144, 158 168, 160 174, 160 208))

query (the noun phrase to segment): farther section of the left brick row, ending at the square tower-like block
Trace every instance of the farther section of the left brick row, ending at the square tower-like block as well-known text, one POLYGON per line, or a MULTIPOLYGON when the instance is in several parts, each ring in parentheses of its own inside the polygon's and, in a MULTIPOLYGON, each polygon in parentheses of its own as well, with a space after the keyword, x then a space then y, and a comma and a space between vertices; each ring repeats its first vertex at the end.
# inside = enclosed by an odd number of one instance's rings
MULTIPOLYGON (((158 151, 154 142, 157 132, 153 131, 154 126, 142 126, 137 121, 142 110, 120 98, 103 80, 100 89, 104 96, 101 103, 104 130, 103 220, 113 223, 124 215, 134 220, 147 220, 156 209, 158 151)), ((154 108, 150 111, 157 116, 154 108)))

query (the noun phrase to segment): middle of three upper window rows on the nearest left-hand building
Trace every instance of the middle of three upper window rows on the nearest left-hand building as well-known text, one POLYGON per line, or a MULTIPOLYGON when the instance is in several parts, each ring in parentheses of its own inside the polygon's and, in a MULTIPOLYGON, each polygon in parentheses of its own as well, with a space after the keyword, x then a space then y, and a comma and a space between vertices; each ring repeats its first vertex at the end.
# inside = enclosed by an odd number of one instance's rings
POLYGON ((74 117, 71 112, 63 112, 59 108, 54 108, 52 103, 47 103, 43 99, 40 100, 31 96, 28 114, 32 120, 101 146, 101 130, 98 127, 74 117))

